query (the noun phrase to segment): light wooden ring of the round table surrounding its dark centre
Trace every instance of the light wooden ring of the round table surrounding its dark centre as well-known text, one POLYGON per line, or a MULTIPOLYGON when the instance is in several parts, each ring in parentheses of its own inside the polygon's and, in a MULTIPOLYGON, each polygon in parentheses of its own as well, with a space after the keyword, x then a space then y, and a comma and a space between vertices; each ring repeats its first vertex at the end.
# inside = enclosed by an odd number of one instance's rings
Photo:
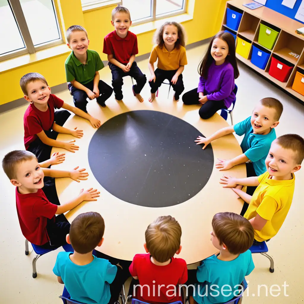
MULTIPOLYGON (((208 120, 200 119, 197 106, 185 106, 181 101, 165 100, 140 103, 134 98, 134 100, 128 100, 125 103, 111 101, 107 105, 107 108, 101 108, 96 102, 89 102, 88 112, 93 113, 103 124, 112 117, 128 111, 160 111, 183 119, 198 130, 197 136, 201 132, 206 137, 216 130, 228 126, 227 122, 218 114, 208 120)), ((96 129, 85 119, 73 115, 64 124, 64 127, 70 129, 76 126, 78 129, 84 130, 84 136, 81 139, 76 139, 76 144, 80 147, 79 150, 72 153, 64 149, 53 148, 52 153, 58 151, 66 153, 65 161, 62 164, 54 165, 53 168, 71 170, 79 166, 79 168, 86 168, 89 177, 87 181, 80 183, 72 181, 70 178, 56 178, 56 188, 61 204, 78 195, 82 188, 93 187, 101 192, 97 201, 82 202, 65 214, 70 223, 83 212, 94 211, 102 215, 105 220, 104 242, 96 250, 111 257, 132 261, 135 254, 145 253, 143 244, 145 243, 144 233, 147 226, 158 216, 171 215, 178 220, 182 229, 182 250, 178 257, 185 259, 187 264, 193 264, 216 253, 217 249, 210 241, 212 217, 217 212, 225 211, 240 214, 244 203, 230 188, 223 188, 219 184, 219 180, 224 173, 237 178, 246 177, 245 164, 225 172, 219 171, 213 165, 212 173, 204 188, 178 205, 158 208, 138 206, 116 198, 98 183, 92 174, 88 161, 88 147, 96 129)), ((74 139, 73 136, 67 134, 59 134, 57 137, 57 140, 61 141, 72 139, 74 139)), ((193 145, 195 145, 194 140, 195 138, 193 138, 193 145)), ((117 150, 119 149, 121 147, 117 143, 117 150)), ((231 159, 242 153, 233 134, 212 142, 212 149, 215 161, 217 158, 231 159)))

